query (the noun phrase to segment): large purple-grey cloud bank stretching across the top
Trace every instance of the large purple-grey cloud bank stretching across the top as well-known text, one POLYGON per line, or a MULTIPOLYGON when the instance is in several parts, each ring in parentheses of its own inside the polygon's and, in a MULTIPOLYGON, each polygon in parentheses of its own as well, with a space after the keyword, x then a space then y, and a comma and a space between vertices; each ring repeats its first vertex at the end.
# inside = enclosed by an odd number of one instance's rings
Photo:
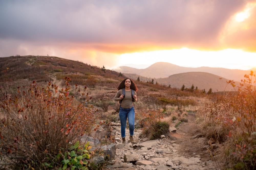
POLYGON ((247 1, 0 1, 0 38, 42 43, 208 44, 247 1))

